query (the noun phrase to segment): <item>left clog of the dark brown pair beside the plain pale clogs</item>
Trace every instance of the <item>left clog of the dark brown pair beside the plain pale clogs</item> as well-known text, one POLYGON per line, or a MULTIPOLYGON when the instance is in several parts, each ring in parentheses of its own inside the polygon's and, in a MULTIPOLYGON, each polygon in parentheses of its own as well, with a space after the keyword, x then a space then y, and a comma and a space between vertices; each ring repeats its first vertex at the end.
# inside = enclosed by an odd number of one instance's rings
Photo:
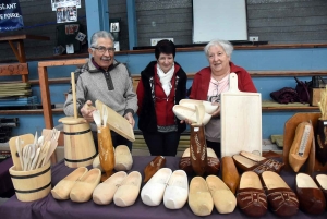
POLYGON ((239 208, 250 217, 262 217, 267 211, 267 197, 258 175, 244 172, 237 194, 239 208))

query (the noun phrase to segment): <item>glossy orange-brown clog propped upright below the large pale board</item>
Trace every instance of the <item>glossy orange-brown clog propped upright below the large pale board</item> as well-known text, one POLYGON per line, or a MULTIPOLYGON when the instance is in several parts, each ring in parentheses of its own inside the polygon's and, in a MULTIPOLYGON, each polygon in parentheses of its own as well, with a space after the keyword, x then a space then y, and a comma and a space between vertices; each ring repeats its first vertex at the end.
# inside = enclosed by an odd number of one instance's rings
POLYGON ((240 184, 240 174, 231 157, 225 156, 221 158, 222 181, 235 194, 240 184))

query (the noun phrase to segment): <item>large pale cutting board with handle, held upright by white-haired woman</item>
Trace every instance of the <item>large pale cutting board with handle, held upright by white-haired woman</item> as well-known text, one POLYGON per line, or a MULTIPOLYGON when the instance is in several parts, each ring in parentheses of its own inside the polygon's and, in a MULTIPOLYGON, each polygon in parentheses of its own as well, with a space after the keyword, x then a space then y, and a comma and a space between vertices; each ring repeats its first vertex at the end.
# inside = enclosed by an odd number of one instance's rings
POLYGON ((262 155, 262 96, 238 89, 238 76, 229 76, 230 88, 221 93, 221 157, 241 150, 262 155))

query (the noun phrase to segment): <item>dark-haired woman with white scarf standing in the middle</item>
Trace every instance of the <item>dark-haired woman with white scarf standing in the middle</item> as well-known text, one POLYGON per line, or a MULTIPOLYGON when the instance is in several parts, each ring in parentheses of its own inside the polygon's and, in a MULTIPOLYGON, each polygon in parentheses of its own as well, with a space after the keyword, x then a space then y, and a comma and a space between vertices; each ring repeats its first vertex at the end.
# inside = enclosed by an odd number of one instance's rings
POLYGON ((186 96, 187 76, 174 61, 175 46, 164 39, 155 48, 157 61, 142 72, 137 86, 138 129, 152 156, 175 156, 185 123, 172 112, 172 107, 186 96))

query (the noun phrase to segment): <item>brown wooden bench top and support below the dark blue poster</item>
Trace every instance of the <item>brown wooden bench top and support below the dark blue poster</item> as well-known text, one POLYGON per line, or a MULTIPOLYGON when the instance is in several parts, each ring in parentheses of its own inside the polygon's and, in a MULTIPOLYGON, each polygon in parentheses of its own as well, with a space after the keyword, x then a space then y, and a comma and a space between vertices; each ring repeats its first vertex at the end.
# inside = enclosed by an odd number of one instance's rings
MULTIPOLYGON (((25 39, 50 40, 50 37, 27 35, 27 34, 0 36, 0 42, 8 41, 8 44, 10 45, 12 51, 14 52, 20 63, 26 63, 26 56, 25 56, 25 48, 24 48, 25 39), (14 42, 17 42, 17 46, 15 46, 14 42)), ((28 81, 27 74, 22 74, 22 81, 23 82, 28 81)))

